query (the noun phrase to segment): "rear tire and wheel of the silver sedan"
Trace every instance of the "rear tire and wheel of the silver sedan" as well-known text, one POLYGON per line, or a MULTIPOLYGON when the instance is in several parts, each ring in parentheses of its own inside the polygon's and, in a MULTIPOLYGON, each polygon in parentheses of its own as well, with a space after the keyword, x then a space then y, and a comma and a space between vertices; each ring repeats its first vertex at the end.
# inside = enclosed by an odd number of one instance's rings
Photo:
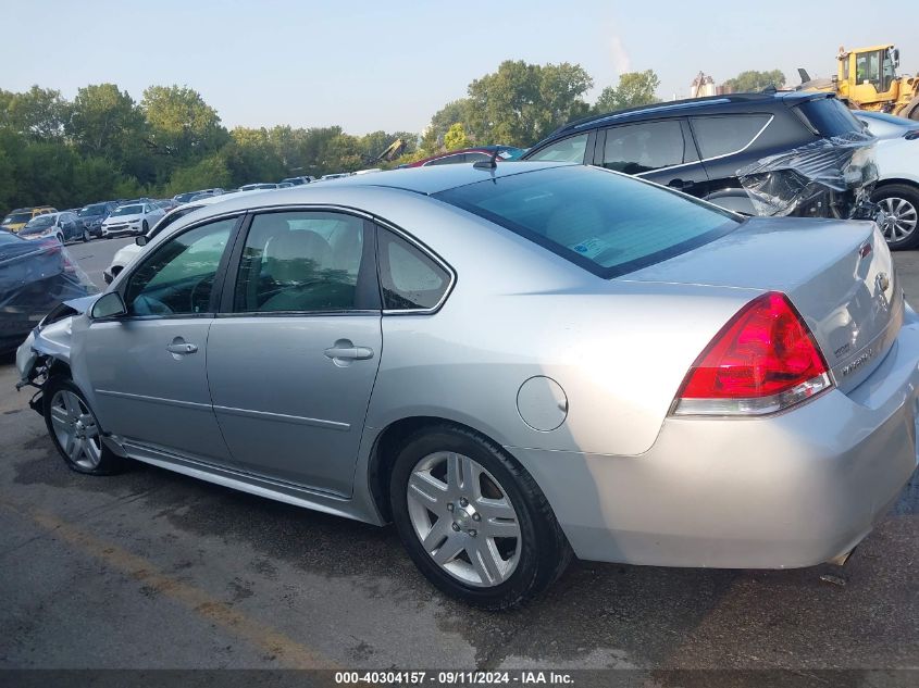
POLYGON ((451 425, 402 445, 389 498, 412 561, 438 589, 488 610, 538 595, 572 552, 539 487, 500 447, 451 425))

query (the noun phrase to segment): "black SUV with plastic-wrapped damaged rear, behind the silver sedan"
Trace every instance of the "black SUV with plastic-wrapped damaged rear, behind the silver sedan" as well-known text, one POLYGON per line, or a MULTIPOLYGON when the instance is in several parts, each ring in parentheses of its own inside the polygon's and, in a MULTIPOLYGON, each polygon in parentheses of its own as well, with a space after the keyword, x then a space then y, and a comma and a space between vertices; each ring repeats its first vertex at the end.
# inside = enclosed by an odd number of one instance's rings
POLYGON ((522 159, 597 165, 749 215, 872 217, 872 142, 832 93, 734 93, 571 122, 522 159))

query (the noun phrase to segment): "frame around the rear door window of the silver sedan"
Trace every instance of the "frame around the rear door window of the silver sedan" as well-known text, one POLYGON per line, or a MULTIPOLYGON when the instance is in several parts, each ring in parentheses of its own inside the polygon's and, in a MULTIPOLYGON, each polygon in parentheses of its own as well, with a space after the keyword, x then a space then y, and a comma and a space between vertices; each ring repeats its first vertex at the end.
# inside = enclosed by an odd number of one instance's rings
MULTIPOLYGON (((358 211, 356 209, 340 207, 340 205, 270 205, 265 208, 250 208, 246 211, 246 220, 243 223, 237 234, 237 240, 233 246, 233 251, 229 254, 228 266, 226 275, 222 285, 222 293, 218 311, 214 313, 215 317, 316 317, 316 316, 348 316, 348 315, 375 315, 381 313, 380 308, 362 308, 362 309, 341 309, 335 311, 236 311, 236 279, 239 275, 239 266, 243 261, 243 251, 246 248, 246 240, 249 237, 249 232, 252 228, 252 222, 258 215, 266 215, 272 213, 295 213, 295 212, 314 212, 314 213, 337 213, 339 215, 350 215, 363 221, 364 242, 362 262, 368 258, 372 260, 368 263, 367 270, 372 272, 369 279, 375 280, 376 289, 374 295, 377 298, 377 303, 382 307, 382 295, 380 293, 380 275, 378 266, 376 264, 376 228, 373 224, 373 216, 369 213, 358 211), (372 263, 372 264, 371 264, 372 263)), ((371 282, 371 285, 373 282, 371 282)))

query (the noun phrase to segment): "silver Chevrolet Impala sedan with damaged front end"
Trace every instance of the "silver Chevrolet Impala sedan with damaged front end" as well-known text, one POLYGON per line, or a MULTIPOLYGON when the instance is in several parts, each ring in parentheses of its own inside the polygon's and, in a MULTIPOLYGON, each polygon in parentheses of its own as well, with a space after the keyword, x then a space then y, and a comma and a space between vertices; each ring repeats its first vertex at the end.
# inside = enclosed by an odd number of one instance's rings
POLYGON ((17 354, 67 465, 394 522, 501 609, 572 558, 843 561, 916 467, 919 317, 873 223, 585 166, 228 197, 17 354))

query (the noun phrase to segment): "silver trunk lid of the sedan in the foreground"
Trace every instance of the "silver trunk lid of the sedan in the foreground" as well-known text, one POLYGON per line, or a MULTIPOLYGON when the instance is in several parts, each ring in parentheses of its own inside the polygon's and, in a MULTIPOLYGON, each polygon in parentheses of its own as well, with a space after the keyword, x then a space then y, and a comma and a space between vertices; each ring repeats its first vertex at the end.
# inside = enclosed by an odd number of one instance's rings
POLYGON ((725 237, 620 279, 784 292, 843 391, 881 363, 903 322, 891 253, 869 222, 750 218, 725 237))

